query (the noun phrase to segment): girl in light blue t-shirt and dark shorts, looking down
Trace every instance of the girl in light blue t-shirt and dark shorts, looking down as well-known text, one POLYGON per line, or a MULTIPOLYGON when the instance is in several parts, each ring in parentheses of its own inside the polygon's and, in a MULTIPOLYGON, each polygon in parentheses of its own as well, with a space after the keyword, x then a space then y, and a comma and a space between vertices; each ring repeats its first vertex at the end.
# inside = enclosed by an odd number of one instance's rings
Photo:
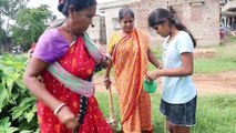
POLYGON ((193 50, 196 41, 189 31, 165 9, 148 16, 148 25, 166 38, 163 43, 163 69, 148 72, 147 80, 163 76, 160 111, 167 119, 170 133, 189 133, 195 124, 197 93, 192 81, 193 50))

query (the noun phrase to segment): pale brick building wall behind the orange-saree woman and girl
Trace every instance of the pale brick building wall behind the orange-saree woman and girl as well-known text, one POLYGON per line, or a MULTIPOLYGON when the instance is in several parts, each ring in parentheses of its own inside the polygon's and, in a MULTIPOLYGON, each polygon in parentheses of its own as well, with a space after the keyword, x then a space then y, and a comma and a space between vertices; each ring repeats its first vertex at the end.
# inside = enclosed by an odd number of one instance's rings
POLYGON ((168 6, 175 9, 177 18, 193 33, 197 47, 219 44, 219 0, 140 0, 112 8, 103 7, 101 10, 105 11, 106 37, 119 30, 113 27, 119 10, 122 7, 130 7, 135 12, 135 27, 150 35, 152 47, 158 47, 163 39, 147 27, 147 16, 155 8, 168 6), (198 4, 202 1, 203 4, 198 4))

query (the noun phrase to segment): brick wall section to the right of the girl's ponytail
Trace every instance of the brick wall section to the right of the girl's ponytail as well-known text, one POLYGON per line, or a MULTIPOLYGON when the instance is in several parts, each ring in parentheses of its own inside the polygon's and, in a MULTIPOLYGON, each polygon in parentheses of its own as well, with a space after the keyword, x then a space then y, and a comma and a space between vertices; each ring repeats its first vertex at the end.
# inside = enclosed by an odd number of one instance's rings
POLYGON ((205 0, 202 6, 189 2, 170 4, 197 40, 198 47, 219 45, 219 0, 205 0))

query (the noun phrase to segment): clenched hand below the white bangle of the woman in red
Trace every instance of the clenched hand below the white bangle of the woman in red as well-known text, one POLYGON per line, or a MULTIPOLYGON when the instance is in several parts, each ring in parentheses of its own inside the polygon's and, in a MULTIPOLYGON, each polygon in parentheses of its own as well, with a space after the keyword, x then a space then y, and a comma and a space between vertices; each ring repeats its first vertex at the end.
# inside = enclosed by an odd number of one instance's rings
POLYGON ((69 130, 75 130, 79 126, 78 117, 70 111, 68 106, 63 106, 58 113, 59 120, 69 130))

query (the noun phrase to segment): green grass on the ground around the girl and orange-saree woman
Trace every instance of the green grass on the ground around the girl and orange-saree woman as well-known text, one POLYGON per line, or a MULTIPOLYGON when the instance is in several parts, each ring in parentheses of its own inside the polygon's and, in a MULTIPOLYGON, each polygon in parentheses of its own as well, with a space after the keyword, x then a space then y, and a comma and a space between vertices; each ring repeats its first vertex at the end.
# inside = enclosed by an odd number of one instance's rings
MULTIPOLYGON (((194 72, 199 74, 216 73, 236 70, 236 38, 230 38, 227 44, 215 49, 214 58, 197 58, 194 62, 194 72)), ((161 61, 160 49, 153 49, 156 58, 161 61)), ((150 64, 148 71, 155 68, 150 64)), ((101 72, 100 74, 103 74, 101 72)), ((105 117, 109 117, 109 95, 107 93, 96 94, 100 108, 105 117)), ((115 114, 120 121, 119 102, 116 94, 113 94, 115 114)), ((160 114, 161 94, 151 94, 152 100, 152 122, 154 133, 163 132, 164 119, 160 114)), ((192 133, 236 133, 236 94, 199 96, 197 100, 196 125, 192 133)))

